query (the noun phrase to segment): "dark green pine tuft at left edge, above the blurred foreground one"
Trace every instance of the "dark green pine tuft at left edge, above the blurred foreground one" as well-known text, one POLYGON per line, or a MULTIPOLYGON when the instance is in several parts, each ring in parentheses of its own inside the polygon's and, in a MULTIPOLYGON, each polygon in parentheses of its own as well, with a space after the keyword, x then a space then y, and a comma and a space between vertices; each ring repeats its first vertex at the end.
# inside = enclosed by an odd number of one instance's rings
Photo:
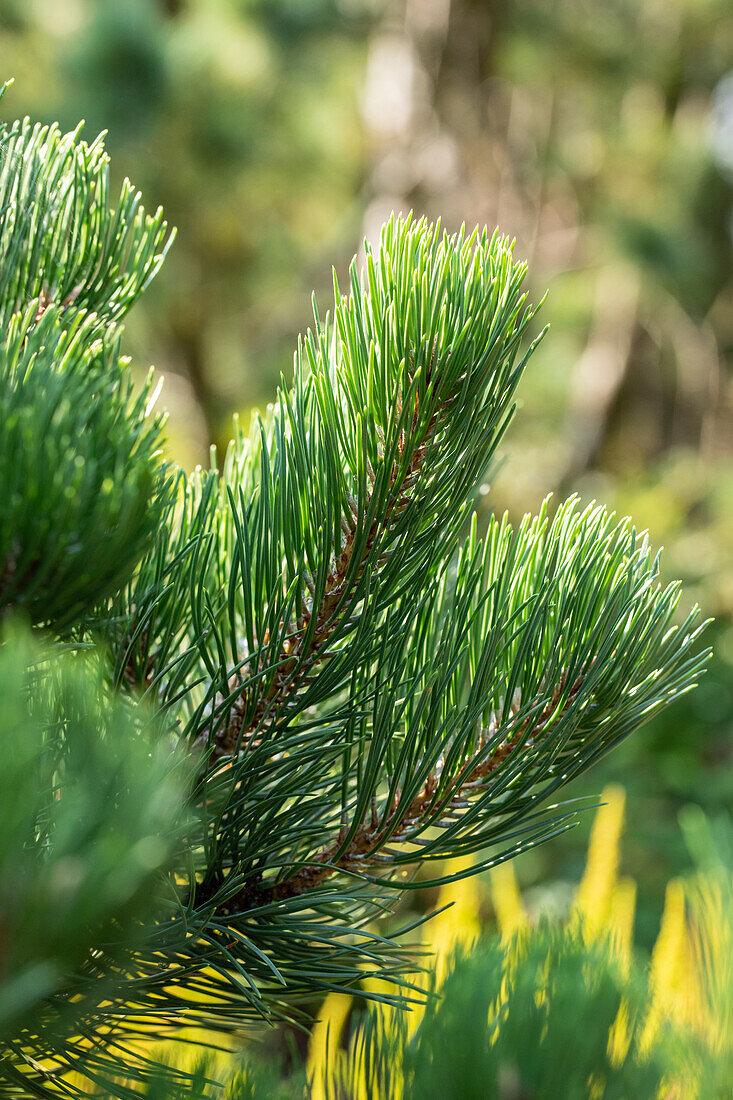
POLYGON ((0 338, 0 617, 68 628, 130 576, 166 507, 163 420, 119 333, 31 302, 0 338))

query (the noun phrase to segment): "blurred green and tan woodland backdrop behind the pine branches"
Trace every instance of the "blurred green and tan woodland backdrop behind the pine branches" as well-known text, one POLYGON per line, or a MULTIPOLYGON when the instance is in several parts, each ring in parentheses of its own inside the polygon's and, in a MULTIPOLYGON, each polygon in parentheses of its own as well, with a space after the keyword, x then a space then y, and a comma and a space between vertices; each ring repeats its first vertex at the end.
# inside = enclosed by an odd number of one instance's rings
MULTIPOLYGON (((392 209, 516 237, 550 332, 481 507, 631 513, 715 617, 699 690, 569 792, 625 785, 650 943, 679 810, 733 805, 730 0, 0 0, 0 76, 7 118, 107 129, 113 178, 178 227, 125 339, 186 466, 272 397, 311 289, 324 311, 392 209)), ((565 904, 589 826, 521 857, 529 904, 565 904)))

